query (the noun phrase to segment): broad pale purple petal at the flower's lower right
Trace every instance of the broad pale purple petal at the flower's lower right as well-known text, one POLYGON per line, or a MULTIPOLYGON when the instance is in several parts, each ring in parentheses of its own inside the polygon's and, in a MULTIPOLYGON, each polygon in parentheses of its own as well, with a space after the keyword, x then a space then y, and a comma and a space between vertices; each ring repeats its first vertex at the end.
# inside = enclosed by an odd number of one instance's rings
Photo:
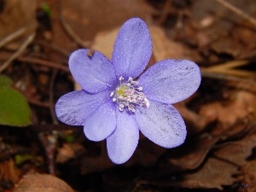
POLYGON ((172 105, 149 101, 148 108, 137 108, 135 117, 145 137, 164 147, 181 145, 187 135, 183 118, 172 105))

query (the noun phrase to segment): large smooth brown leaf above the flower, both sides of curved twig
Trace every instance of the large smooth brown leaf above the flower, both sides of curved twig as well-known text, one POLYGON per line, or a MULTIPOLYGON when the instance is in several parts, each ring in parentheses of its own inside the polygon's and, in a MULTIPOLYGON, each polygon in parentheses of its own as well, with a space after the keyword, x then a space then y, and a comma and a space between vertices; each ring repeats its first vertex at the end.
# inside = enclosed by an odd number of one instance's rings
MULTIPOLYGON (((98 32, 109 31, 131 17, 137 16, 145 19, 148 10, 151 9, 144 1, 137 0, 122 3, 119 3, 119 0, 51 2, 50 7, 53 13, 61 12, 62 19, 66 21, 67 26, 84 41, 93 40, 98 32)), ((58 22, 58 16, 58 14, 53 15, 53 33, 55 34, 53 43, 68 50, 77 49, 73 38, 67 35, 58 22)))

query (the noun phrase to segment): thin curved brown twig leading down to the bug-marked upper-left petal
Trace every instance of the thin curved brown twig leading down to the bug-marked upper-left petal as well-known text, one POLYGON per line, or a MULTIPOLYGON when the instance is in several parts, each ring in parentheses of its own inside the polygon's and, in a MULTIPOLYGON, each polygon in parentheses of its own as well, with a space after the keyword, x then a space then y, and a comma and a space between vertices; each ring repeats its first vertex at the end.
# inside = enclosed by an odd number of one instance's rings
MULTIPOLYGON (((59 2, 61 3, 61 1, 59 2)), ((68 26, 66 20, 64 19, 64 16, 62 15, 62 9, 61 9, 61 6, 60 6, 60 14, 59 14, 59 18, 61 20, 61 24, 62 26, 64 27, 64 29, 66 30, 67 34, 73 38, 73 40, 79 44, 79 46, 81 47, 84 47, 84 48, 87 48, 87 47, 90 47, 90 44, 91 42, 90 41, 84 41, 83 39, 79 38, 79 36, 73 32, 73 29, 68 26)))

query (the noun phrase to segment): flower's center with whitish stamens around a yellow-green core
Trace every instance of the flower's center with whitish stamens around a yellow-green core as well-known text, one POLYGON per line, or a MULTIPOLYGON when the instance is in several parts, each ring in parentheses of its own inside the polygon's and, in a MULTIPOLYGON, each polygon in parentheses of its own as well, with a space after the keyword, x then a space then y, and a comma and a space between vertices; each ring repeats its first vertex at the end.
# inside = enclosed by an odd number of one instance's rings
POLYGON ((119 105, 119 111, 124 111, 127 108, 131 112, 135 112, 135 106, 143 108, 149 107, 149 102, 143 93, 143 87, 138 86, 138 82, 131 77, 126 83, 123 82, 124 78, 119 78, 119 86, 111 93, 113 102, 119 105))

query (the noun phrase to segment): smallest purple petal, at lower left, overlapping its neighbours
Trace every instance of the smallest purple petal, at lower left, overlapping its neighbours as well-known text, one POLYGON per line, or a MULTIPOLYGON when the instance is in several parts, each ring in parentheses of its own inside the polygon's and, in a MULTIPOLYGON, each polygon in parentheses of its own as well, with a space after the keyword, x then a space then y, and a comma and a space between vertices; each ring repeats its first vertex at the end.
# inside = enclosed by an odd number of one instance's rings
POLYGON ((88 139, 99 142, 114 131, 116 127, 114 107, 112 101, 105 102, 85 121, 84 134, 88 139))

